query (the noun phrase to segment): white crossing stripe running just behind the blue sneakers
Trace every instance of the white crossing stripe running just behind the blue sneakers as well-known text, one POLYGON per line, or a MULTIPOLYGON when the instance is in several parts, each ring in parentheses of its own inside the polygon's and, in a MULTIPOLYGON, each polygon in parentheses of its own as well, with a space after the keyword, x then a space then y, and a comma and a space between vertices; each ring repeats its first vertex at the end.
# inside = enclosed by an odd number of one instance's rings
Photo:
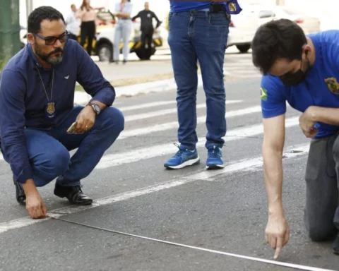
MULTIPOLYGON (((285 127, 297 126, 299 124, 299 116, 292 117, 285 120, 285 127)), ((235 128, 233 130, 227 131, 227 135, 225 136, 225 142, 229 142, 232 140, 239 140, 249 136, 260 135, 263 133, 263 125, 256 124, 254 126, 244 127, 244 128, 235 128)), ((201 137, 198 138, 198 143, 196 147, 203 147, 205 145, 206 138, 201 137)), ((97 164, 96 169, 106 169, 107 167, 115 167, 121 164, 129 164, 133 162, 138 162, 144 159, 150 159, 153 157, 159 157, 162 155, 174 155, 176 152, 176 148, 172 145, 166 143, 162 145, 153 145, 151 147, 143 147, 136 150, 131 150, 129 152, 120 152, 120 153, 112 153, 110 155, 105 155, 102 157, 100 162, 97 164)))

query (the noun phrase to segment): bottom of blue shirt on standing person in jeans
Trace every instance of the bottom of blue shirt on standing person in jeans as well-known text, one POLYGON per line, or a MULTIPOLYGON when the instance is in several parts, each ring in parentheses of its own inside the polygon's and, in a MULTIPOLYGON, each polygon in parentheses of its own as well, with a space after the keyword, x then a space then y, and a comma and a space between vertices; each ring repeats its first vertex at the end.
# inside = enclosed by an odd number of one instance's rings
MULTIPOLYGON (((183 12, 192 10, 201 10, 209 8, 213 1, 181 1, 181 0, 170 0, 171 11, 170 12, 183 12)), ((215 4, 224 4, 229 14, 239 14, 242 8, 239 6, 237 0, 231 0, 227 2, 220 2, 215 4)))

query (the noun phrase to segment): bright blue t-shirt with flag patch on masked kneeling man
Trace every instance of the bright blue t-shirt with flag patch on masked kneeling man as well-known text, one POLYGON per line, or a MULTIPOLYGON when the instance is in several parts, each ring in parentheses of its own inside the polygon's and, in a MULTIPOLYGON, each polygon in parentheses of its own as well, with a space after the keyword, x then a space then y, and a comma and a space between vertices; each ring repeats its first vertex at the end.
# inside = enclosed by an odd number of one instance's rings
MULTIPOLYGON (((299 112, 311 105, 339 107, 339 30, 328 30, 308 35, 314 43, 316 59, 307 72, 304 82, 294 87, 283 85, 278 76, 261 79, 261 108, 263 118, 279 116, 286 112, 286 101, 299 112)), ((339 131, 339 126, 316 123, 323 138, 339 131)))

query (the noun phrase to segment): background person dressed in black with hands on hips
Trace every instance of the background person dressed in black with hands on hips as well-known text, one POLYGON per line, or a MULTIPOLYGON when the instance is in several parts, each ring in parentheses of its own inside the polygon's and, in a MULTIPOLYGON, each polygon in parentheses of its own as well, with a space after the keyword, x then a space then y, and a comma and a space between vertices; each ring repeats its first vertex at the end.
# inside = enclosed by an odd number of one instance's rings
POLYGON ((143 46, 143 52, 145 56, 150 56, 152 53, 152 42, 153 42, 153 32, 157 32, 157 28, 161 25, 161 21, 157 18, 153 11, 150 11, 150 5, 148 2, 145 2, 145 9, 143 11, 139 11, 139 13, 132 18, 135 20, 136 18, 141 18, 141 42, 143 46), (153 28, 153 18, 157 21, 157 25, 155 29, 153 28), (147 50, 146 50, 146 40, 147 40, 147 50))

